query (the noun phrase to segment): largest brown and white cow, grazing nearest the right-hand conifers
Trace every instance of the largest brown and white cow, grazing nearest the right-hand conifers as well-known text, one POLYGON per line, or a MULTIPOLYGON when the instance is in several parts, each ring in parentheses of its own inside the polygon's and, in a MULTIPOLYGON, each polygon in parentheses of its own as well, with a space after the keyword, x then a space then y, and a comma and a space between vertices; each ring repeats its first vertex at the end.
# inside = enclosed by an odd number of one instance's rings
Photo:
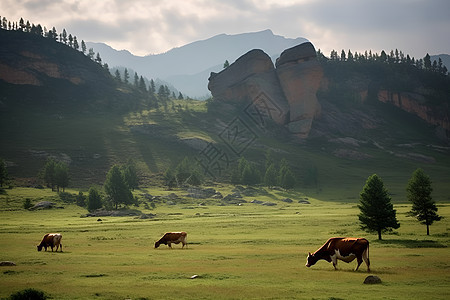
POLYGON ((327 262, 333 262, 333 267, 337 270, 336 266, 338 259, 349 263, 355 258, 358 262, 355 271, 358 270, 364 260, 367 265, 367 272, 370 272, 369 241, 364 238, 334 237, 328 239, 328 241, 316 252, 312 254, 308 253, 306 266, 311 267, 318 260, 324 259, 327 262))

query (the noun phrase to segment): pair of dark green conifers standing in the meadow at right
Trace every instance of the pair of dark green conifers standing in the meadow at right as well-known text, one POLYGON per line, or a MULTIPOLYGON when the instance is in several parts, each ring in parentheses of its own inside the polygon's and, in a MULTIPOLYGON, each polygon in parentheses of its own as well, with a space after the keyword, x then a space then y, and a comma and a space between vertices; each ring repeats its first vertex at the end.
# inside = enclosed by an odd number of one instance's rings
MULTIPOLYGON (((422 169, 417 169, 412 174, 406 187, 407 199, 412 202, 409 216, 416 217, 419 222, 427 226, 427 235, 430 234, 429 226, 434 221, 439 221, 441 216, 437 214, 437 207, 431 197, 431 180, 422 169)), ((381 240, 383 232, 390 232, 400 227, 396 218, 396 210, 391 203, 388 190, 384 187, 381 178, 373 174, 369 176, 360 194, 361 213, 358 215, 361 228, 368 232, 378 233, 381 240)))

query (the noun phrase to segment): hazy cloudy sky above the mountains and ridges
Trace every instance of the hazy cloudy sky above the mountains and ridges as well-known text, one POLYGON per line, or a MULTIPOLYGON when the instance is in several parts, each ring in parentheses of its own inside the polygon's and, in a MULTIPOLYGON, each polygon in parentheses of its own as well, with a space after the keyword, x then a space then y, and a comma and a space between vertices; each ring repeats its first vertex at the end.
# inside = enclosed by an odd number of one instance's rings
POLYGON ((265 29, 304 37, 327 56, 333 49, 450 54, 449 0, 1 0, 0 15, 141 56, 265 29))

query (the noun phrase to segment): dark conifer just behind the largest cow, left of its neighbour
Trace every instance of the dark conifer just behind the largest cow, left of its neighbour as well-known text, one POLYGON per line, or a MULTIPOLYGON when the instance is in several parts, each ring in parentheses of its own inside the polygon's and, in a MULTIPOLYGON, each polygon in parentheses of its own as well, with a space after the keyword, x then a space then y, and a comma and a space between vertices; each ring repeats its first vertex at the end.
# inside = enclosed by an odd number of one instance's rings
POLYGON ((361 210, 358 215, 362 223, 361 228, 368 232, 377 232, 379 240, 381 240, 382 232, 389 232, 400 227, 388 191, 377 174, 367 179, 360 194, 358 207, 361 210))

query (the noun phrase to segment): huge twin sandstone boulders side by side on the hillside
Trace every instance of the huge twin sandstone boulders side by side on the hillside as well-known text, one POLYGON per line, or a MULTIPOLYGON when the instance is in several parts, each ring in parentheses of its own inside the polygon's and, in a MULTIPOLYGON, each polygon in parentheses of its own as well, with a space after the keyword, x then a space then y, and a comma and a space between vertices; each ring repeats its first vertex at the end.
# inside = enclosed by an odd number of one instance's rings
POLYGON ((220 73, 211 73, 208 89, 224 102, 251 103, 264 95, 270 117, 305 138, 320 113, 316 92, 323 71, 315 58, 309 42, 285 50, 276 68, 262 50, 251 50, 220 73))

